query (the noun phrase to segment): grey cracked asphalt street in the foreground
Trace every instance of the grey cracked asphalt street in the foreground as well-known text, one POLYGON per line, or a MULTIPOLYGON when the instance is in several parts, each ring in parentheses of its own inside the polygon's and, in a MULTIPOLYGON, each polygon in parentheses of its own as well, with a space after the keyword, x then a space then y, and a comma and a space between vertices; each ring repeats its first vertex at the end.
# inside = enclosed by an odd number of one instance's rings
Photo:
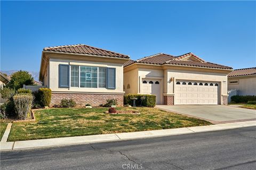
POLYGON ((91 145, 1 152, 1 170, 255 168, 256 126, 91 145))

